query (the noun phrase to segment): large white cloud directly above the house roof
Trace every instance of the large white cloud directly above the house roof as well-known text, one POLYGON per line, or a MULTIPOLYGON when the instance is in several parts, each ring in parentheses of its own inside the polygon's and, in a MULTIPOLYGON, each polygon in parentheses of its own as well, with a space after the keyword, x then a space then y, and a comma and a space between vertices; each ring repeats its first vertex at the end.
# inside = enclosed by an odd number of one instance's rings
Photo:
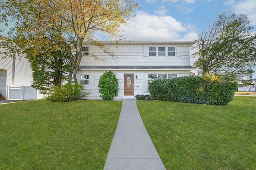
POLYGON ((194 40, 197 36, 195 27, 176 21, 171 16, 151 16, 141 11, 121 29, 130 40, 194 40))

